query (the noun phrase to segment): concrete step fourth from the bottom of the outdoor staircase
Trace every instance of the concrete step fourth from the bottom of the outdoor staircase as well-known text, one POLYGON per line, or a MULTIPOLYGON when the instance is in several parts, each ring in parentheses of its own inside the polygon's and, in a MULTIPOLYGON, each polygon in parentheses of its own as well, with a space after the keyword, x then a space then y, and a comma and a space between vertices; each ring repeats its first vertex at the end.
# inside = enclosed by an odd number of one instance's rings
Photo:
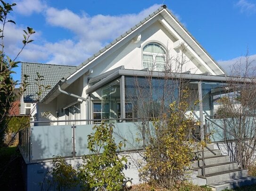
MULTIPOLYGON (((205 157, 205 165, 211 164, 219 164, 224 162, 230 162, 230 157, 226 155, 216 155, 212 157, 205 157)), ((198 166, 203 165, 203 160, 199 158, 199 160, 195 160, 191 164, 191 168, 197 168, 198 166)))

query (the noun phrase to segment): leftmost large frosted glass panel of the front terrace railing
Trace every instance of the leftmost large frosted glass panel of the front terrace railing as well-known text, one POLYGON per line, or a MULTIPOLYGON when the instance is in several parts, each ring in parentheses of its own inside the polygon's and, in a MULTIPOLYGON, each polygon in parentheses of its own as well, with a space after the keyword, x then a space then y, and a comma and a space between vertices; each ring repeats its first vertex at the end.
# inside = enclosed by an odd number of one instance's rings
POLYGON ((72 128, 70 125, 34 126, 31 131, 32 160, 72 156, 72 128))

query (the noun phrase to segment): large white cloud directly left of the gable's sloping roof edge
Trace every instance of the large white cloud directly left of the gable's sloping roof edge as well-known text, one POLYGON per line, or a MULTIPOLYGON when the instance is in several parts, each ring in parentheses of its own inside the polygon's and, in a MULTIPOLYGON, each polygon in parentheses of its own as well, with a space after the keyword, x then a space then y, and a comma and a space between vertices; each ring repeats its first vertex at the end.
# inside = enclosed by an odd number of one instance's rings
POLYGON ((117 38, 159 7, 160 5, 156 4, 139 14, 118 16, 78 15, 68 9, 47 8, 46 21, 53 26, 72 31, 74 37, 33 47, 33 51, 37 49, 38 52, 47 53, 47 63, 78 65, 98 52, 106 42, 117 38))

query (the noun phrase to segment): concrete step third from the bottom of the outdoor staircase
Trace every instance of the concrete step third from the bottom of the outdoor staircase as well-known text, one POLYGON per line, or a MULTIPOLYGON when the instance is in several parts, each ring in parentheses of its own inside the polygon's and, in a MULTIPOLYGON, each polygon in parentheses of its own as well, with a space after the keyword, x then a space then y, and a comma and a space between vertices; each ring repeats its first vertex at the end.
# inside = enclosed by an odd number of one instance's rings
MULTIPOLYGON (((226 171, 226 170, 233 170, 238 168, 238 163, 236 162, 223 162, 219 164, 212 164, 205 166, 205 174, 212 174, 216 172, 226 171)), ((198 170, 198 175, 202 175, 203 166, 194 168, 198 170)))

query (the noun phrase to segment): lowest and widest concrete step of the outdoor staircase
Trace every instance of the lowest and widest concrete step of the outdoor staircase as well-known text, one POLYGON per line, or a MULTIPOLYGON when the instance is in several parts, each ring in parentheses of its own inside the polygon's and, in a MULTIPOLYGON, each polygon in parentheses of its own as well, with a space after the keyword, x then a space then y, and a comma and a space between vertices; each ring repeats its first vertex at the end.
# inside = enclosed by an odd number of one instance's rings
POLYGON ((222 191, 224 189, 233 189, 241 186, 248 186, 256 184, 256 177, 254 176, 244 176, 239 178, 233 178, 231 180, 207 184, 211 187, 213 191, 222 191))

